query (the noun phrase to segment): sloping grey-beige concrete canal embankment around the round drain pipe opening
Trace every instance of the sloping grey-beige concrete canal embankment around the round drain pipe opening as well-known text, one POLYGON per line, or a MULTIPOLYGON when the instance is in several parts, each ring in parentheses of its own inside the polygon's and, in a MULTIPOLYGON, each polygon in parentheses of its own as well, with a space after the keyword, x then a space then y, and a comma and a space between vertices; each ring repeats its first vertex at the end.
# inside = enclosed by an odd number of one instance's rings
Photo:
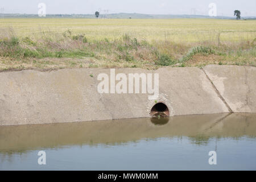
POLYGON ((115 69, 116 75, 159 73, 156 100, 148 100, 148 94, 141 92, 99 93, 100 73, 110 77, 110 69, 97 68, 0 73, 0 125, 151 117, 156 102, 164 103, 170 116, 256 113, 254 67, 115 69))

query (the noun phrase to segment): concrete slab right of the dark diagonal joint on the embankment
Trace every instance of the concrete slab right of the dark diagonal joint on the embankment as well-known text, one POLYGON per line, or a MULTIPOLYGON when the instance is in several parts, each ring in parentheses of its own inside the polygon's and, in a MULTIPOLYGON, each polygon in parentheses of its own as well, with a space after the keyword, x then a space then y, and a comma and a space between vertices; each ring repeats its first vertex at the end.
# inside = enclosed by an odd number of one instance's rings
POLYGON ((256 113, 256 68, 207 65, 204 71, 234 112, 256 113))

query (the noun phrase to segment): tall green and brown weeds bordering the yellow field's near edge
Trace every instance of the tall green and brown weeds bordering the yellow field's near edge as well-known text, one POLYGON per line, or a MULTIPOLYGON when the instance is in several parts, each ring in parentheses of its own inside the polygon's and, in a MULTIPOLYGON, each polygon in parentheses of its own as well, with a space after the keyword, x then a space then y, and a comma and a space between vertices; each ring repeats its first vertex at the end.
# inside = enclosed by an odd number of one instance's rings
MULTIPOLYGON (((70 30, 56 36, 47 36, 34 40, 30 37, 18 38, 13 33, 9 36, 0 36, 0 57, 9 57, 14 60, 34 59, 32 64, 38 64, 36 60, 44 58, 71 58, 86 59, 92 57, 95 60, 109 60, 111 64, 105 67, 115 67, 122 63, 123 67, 138 68, 142 65, 155 67, 191 65, 195 56, 205 59, 218 57, 222 60, 214 60, 216 64, 255 65, 256 39, 251 42, 240 42, 236 45, 229 43, 216 44, 202 43, 202 45, 177 44, 171 41, 152 42, 132 38, 129 34, 119 39, 89 40, 86 35, 73 35, 70 30), (250 61, 246 61, 250 60, 250 61), (127 64, 126 64, 127 63, 127 64)), ((207 60, 206 60, 207 61, 207 60)), ((213 63, 215 63, 213 61, 213 63)), ((211 63, 208 61, 208 63, 211 63)), ((5 64, 5 62, 2 62, 5 64)), ((46 61, 44 64, 50 64, 46 61)), ((108 63, 105 63, 108 64, 108 63)), ((198 63, 203 65, 205 63, 198 63)), ((1 65, 1 64, 0 64, 1 65)), ((20 65, 22 67, 22 65, 20 65)), ((82 68, 83 64, 69 61, 69 67, 82 68)), ((90 68, 97 68, 97 63, 90 63, 90 68)))

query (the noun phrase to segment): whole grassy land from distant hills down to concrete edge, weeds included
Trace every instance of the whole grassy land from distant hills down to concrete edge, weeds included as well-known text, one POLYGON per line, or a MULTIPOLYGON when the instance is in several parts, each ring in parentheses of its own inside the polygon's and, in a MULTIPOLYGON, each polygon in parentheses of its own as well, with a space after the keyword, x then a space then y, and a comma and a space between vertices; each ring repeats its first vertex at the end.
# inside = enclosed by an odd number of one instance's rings
POLYGON ((0 71, 256 65, 256 20, 0 19, 0 71))

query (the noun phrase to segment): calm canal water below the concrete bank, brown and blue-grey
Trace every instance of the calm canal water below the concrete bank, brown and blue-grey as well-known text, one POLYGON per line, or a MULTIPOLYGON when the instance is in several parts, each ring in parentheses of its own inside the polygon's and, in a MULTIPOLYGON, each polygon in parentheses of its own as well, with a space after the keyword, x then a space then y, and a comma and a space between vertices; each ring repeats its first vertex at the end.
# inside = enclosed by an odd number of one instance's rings
POLYGON ((67 169, 255 170, 256 114, 0 127, 0 170, 67 169))

